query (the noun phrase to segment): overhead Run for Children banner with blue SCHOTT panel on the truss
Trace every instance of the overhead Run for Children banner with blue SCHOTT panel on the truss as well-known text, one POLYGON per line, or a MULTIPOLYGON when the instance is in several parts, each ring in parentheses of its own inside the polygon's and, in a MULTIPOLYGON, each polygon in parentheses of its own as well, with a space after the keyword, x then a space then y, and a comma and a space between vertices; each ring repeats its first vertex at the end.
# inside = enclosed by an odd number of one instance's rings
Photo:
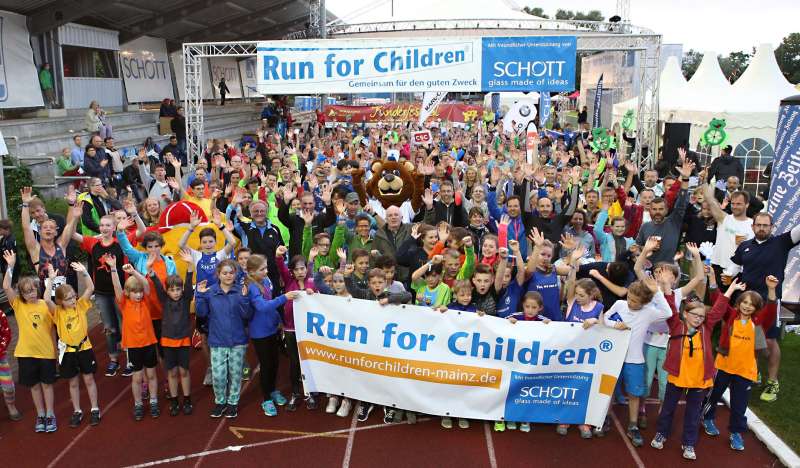
POLYGON ((262 94, 572 91, 574 36, 258 43, 262 94))

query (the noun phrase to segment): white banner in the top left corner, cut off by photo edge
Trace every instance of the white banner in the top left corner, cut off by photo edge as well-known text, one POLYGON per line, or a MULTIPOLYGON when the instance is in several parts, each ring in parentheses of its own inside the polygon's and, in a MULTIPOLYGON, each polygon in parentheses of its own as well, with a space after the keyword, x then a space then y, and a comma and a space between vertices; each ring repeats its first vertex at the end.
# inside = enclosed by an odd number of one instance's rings
MULTIPOLYGON (((39 72, 25 16, 0 11, 0 108, 41 107, 39 72)), ((52 67, 51 67, 52 73, 52 67)))

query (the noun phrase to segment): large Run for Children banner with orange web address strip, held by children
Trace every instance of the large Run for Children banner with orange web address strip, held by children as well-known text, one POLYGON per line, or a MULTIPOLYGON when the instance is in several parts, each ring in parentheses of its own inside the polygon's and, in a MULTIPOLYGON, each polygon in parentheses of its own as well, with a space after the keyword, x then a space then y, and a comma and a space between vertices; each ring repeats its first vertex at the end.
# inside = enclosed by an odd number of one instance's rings
POLYGON ((630 332, 320 294, 294 303, 303 386, 426 414, 602 426, 630 332))

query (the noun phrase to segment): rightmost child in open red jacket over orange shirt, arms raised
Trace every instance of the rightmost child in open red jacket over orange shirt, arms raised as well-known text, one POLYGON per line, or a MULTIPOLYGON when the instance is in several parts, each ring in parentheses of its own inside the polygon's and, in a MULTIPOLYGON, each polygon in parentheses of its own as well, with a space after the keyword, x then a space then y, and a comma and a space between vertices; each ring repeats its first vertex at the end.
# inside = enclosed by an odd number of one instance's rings
POLYGON ((714 424, 717 402, 723 392, 730 387, 731 416, 728 424, 730 442, 733 450, 744 450, 742 433, 747 430, 747 400, 750 388, 758 378, 756 367, 756 327, 765 330, 777 319, 778 279, 772 275, 765 279, 767 284, 767 304, 755 291, 745 291, 747 285, 734 280, 724 296, 714 302, 712 313, 724 313, 722 333, 719 337, 719 353, 715 365, 717 377, 714 379, 714 390, 706 400, 703 411, 703 428, 710 436, 719 435, 714 424), (731 307, 729 302, 736 291, 744 291, 731 307))

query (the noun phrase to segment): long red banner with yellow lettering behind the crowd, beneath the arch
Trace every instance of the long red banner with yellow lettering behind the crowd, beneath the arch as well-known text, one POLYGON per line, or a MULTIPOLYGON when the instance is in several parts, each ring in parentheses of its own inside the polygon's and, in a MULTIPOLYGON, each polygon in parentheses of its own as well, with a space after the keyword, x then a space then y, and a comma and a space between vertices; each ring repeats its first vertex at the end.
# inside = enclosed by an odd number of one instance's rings
MULTIPOLYGON (((417 122, 419 104, 381 104, 378 106, 325 106, 327 122, 417 122)), ((483 117, 483 106, 441 104, 428 116, 430 120, 467 123, 483 117)))

